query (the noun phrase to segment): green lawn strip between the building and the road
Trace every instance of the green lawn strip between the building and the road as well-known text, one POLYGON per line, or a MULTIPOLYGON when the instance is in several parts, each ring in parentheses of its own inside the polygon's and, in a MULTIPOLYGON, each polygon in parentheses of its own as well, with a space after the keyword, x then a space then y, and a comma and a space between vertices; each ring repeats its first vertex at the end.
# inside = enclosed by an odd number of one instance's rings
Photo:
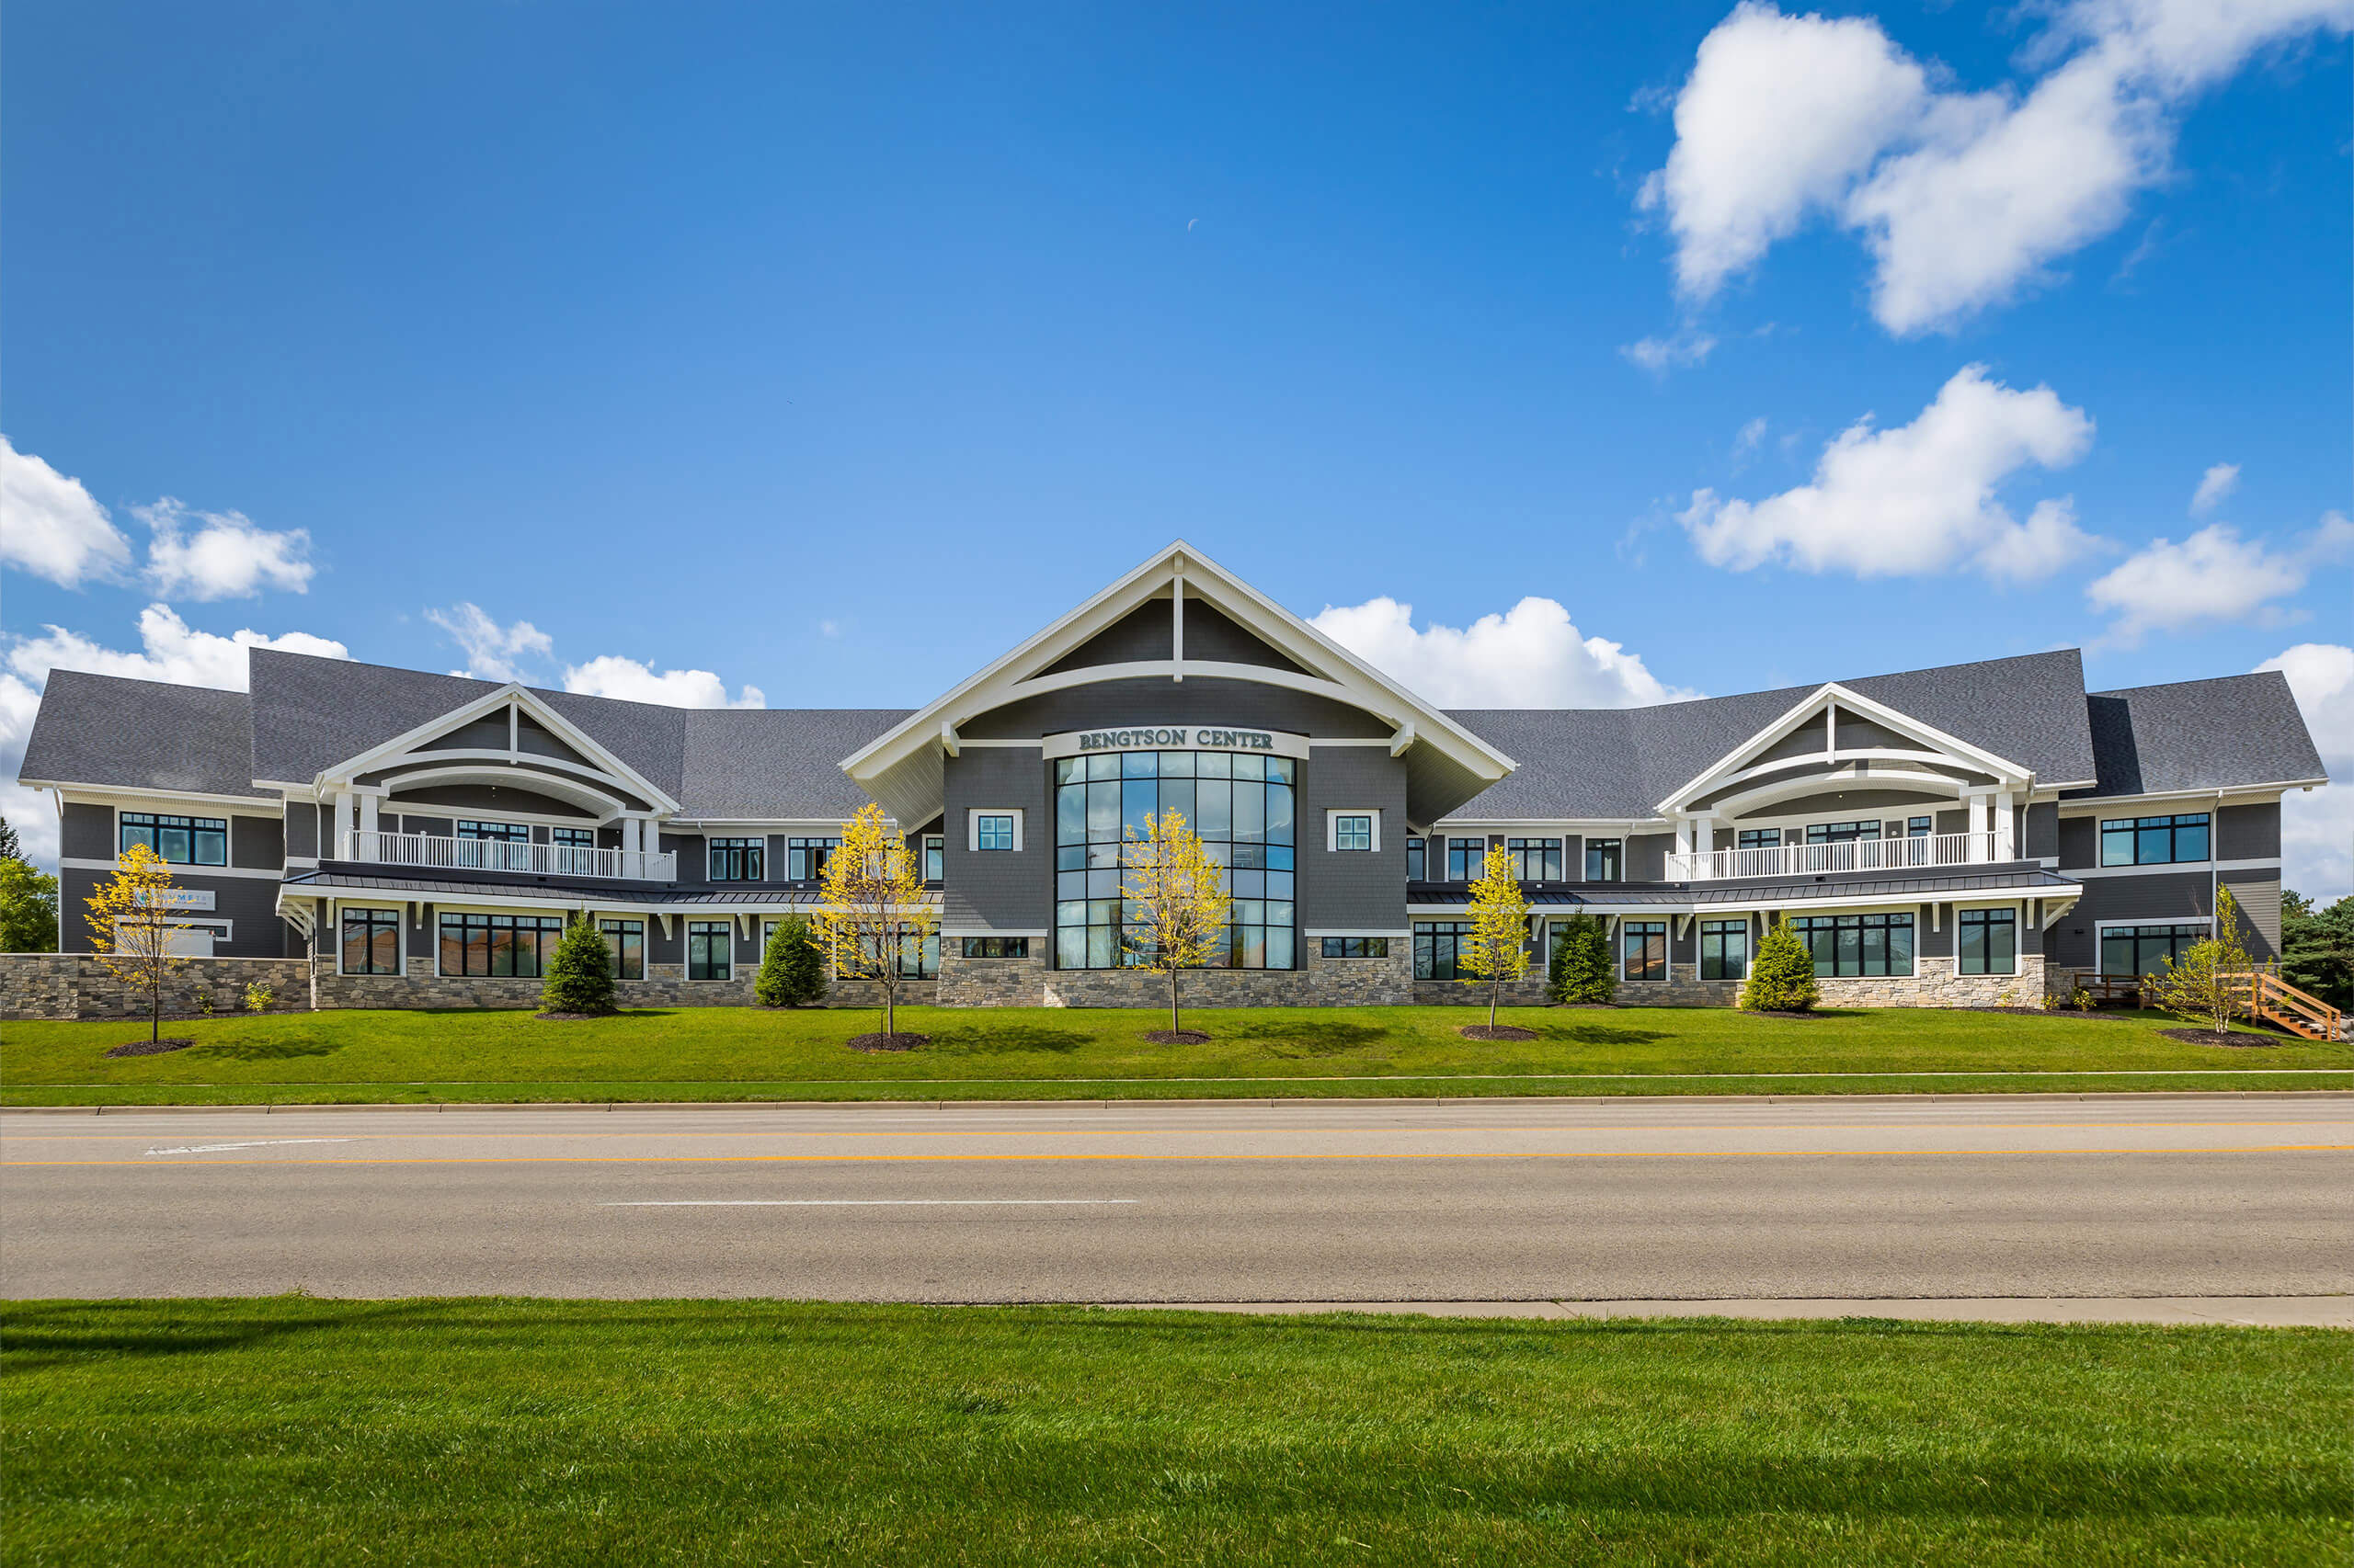
POLYGON ((1163 1024, 1156 1012, 906 1008, 902 1029, 927 1031, 932 1045, 866 1055, 845 1041, 873 1029, 876 1015, 847 1008, 673 1008, 574 1024, 544 1024, 530 1012, 287 1012, 169 1024, 169 1034, 202 1043, 162 1057, 108 1059, 108 1045, 144 1038, 146 1029, 9 1022, 0 1024, 0 1102, 2354 1088, 2354 1045, 2279 1043, 2281 1036, 2250 1036, 2274 1043, 2248 1050, 2185 1045, 2159 1034, 2175 1019, 2156 1015, 1928 1008, 1822 1019, 1721 1008, 1507 1008, 1507 1015, 1542 1038, 1464 1041, 1457 1029, 1481 1019, 1471 1008, 1191 1012, 1186 1022, 1215 1036, 1208 1045, 1144 1041, 1144 1031, 1163 1024))

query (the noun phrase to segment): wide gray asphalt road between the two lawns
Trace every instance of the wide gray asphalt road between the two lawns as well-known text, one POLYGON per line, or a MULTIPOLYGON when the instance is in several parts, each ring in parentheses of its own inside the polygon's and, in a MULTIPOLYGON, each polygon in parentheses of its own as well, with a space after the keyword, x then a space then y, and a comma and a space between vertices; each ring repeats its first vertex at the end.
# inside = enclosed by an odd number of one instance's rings
POLYGON ((0 1116, 12 1297, 2323 1297, 2354 1097, 0 1116))

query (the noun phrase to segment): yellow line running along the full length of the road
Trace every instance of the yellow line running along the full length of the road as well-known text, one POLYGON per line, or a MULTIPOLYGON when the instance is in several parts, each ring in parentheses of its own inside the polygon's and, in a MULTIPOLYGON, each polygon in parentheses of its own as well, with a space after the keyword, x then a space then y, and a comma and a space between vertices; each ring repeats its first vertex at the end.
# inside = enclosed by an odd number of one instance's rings
POLYGON ((2354 1144, 2220 1144, 2208 1149, 1478 1149, 1424 1154, 485 1154, 459 1158, 292 1158, 292 1161, 0 1161, 0 1165, 885 1165, 885 1163, 1066 1163, 1066 1161, 1716 1161, 1846 1156, 1991 1154, 2345 1154, 2354 1144))

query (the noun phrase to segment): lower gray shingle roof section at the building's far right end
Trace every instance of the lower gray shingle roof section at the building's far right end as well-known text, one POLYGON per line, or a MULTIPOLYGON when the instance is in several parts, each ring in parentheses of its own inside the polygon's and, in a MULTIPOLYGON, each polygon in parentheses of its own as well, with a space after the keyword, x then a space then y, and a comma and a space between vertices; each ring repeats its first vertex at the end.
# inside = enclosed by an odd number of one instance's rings
POLYGON ((2100 789, 2081 796, 2286 784, 2328 772, 2276 669, 2093 692, 2086 709, 2100 789))

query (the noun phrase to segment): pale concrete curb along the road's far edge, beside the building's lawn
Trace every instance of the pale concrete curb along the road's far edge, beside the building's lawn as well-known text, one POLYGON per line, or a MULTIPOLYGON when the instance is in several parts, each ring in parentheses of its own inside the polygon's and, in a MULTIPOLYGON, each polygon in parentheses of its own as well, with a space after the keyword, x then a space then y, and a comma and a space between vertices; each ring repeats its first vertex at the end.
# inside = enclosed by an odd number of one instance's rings
POLYGON ((1919 1095, 1233 1095, 1205 1099, 388 1099, 388 1102, 287 1102, 287 1104, 21 1104, 0 1107, 0 1116, 202 1116, 202 1114, 264 1114, 292 1116, 311 1111, 1066 1111, 1066 1109, 1121 1109, 1146 1111, 1168 1109, 1226 1109, 1264 1107, 1269 1111, 1295 1107, 1523 1107, 1523 1104, 2086 1104, 2086 1102, 2149 1102, 2149 1099, 2354 1099, 2354 1090, 1984 1090, 1975 1095, 1919 1092, 1919 1095))

